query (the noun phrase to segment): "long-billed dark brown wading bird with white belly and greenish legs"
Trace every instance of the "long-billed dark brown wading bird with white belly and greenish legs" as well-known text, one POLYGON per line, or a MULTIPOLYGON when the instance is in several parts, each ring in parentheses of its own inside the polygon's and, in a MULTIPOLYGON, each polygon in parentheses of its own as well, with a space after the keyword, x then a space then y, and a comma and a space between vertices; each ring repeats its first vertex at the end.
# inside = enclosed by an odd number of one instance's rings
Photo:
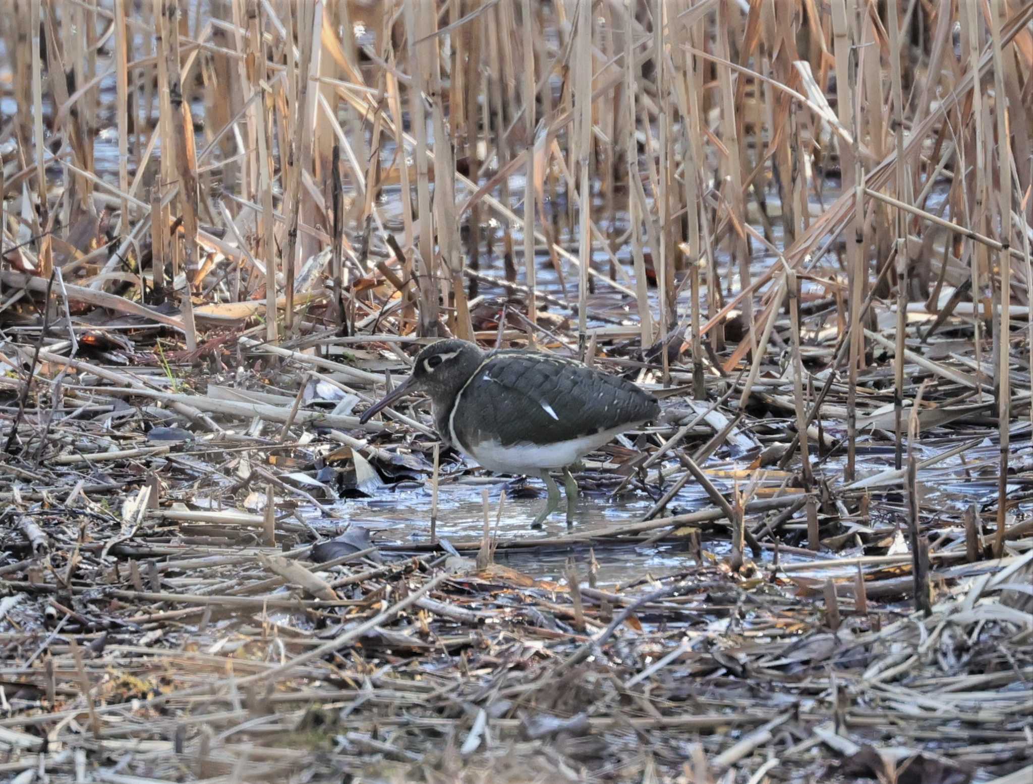
POLYGON ((549 498, 533 528, 560 505, 552 470, 563 473, 569 525, 577 502, 570 466, 660 414, 653 395, 574 359, 525 349, 486 351, 447 339, 424 348, 409 378, 366 409, 359 422, 413 393, 430 397, 435 430, 446 445, 490 471, 541 478, 549 498))

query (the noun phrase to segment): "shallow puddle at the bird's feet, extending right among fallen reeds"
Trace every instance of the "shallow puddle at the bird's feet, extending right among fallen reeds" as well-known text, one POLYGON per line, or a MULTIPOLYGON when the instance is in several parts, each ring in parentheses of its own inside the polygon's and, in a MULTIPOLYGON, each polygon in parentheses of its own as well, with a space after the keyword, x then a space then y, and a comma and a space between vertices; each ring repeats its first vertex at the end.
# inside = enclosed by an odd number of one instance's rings
MULTIPOLYGON (((950 448, 953 443, 938 443, 919 448, 919 460, 930 458, 950 448)), ((988 502, 996 498, 996 466, 995 444, 985 443, 965 453, 962 458, 951 458, 936 467, 919 472, 918 500, 924 512, 939 512, 944 515, 957 515, 973 503, 988 502)), ((1029 453, 1028 435, 1025 442, 1018 445, 1016 453, 1029 453)), ((857 461, 858 478, 874 476, 887 468, 891 468, 894 453, 891 448, 863 448, 857 461)), ((733 468, 746 468, 749 460, 739 463, 717 461, 708 467, 718 471, 733 468)), ((832 459, 824 464, 823 473, 833 477, 834 487, 842 484, 837 477, 842 477, 842 462, 832 459)), ((591 478, 591 476, 589 476, 591 478)), ((781 481, 764 482, 761 488, 776 487, 781 481)), ((731 482, 716 479, 715 484, 721 491, 730 491, 731 482)), ((669 487, 669 483, 668 483, 669 487)), ((743 484, 740 484, 742 489, 743 484)), ((523 487, 502 479, 493 480, 473 478, 469 475, 459 480, 442 481, 438 496, 438 536, 452 540, 468 541, 481 535, 483 529, 482 493, 489 491, 489 510, 493 530, 498 531, 501 540, 529 539, 541 536, 563 536, 571 532, 590 534, 614 525, 635 522, 653 505, 651 497, 640 491, 630 491, 624 498, 611 499, 603 491, 582 493, 573 528, 568 529, 562 511, 556 512, 540 530, 530 529, 530 523, 538 509, 544 503, 544 490, 537 479, 528 480, 523 487), (496 528, 499 499, 505 493, 503 514, 496 528)), ((1018 490, 1009 488, 1011 491, 1018 490)), ((875 491, 878 498, 878 491, 875 491)), ((904 512, 903 499, 894 499, 880 504, 873 502, 869 525, 880 531, 891 533, 898 521, 902 521, 904 512)), ((695 484, 690 483, 681 492, 667 513, 688 512, 710 506, 706 494, 695 484)), ((430 483, 400 482, 394 487, 385 485, 375 497, 369 499, 348 500, 342 502, 340 510, 348 520, 377 532, 378 541, 390 542, 397 545, 426 544, 430 541, 430 483)), ((1024 505, 1022 511, 1029 512, 1030 505, 1024 505)), ((760 522, 759 518, 748 521, 751 527, 760 522)), ((727 555, 729 546, 726 536, 715 535, 705 537, 705 552, 720 558, 727 555)), ((762 561, 770 561, 772 552, 765 551, 762 561)), ((850 555, 862 555, 859 551, 850 555)), ((620 585, 646 576, 663 577, 665 575, 685 572, 696 567, 691 555, 682 543, 660 543, 648 546, 623 546, 620 548, 596 548, 594 556, 599 564, 598 582, 600 585, 620 585)), ((499 552, 497 561, 511 568, 526 572, 536 577, 562 582, 563 569, 567 558, 574 558, 580 564, 589 559, 585 547, 550 548, 546 555, 528 551, 499 552)), ((822 559, 832 558, 834 554, 822 553, 822 559)), ((783 562, 802 562, 808 557, 792 552, 781 554, 783 562)), ((827 576, 847 576, 852 574, 854 566, 826 569, 815 569, 806 572, 807 576, 818 578, 827 576)), ((583 567, 584 573, 584 567, 583 567)))

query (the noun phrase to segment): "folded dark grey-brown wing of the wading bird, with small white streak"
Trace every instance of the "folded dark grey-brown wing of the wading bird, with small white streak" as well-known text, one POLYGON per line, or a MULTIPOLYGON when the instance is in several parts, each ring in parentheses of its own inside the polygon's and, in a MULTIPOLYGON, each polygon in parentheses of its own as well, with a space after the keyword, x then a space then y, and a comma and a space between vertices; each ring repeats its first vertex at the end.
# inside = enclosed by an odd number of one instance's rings
POLYGON ((647 421, 659 414, 649 393, 581 363, 499 351, 467 384, 457 416, 462 443, 555 443, 647 421))

